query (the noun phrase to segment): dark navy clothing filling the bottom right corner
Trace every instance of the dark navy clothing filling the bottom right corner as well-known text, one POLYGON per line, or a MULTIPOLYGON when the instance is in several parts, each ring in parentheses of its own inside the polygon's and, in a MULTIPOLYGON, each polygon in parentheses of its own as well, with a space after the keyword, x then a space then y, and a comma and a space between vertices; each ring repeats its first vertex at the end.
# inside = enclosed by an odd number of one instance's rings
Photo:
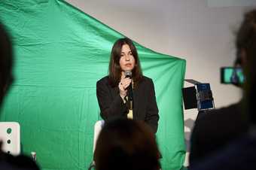
POLYGON ((203 162, 189 168, 190 170, 245 170, 255 169, 256 160, 256 138, 255 129, 251 135, 249 132, 245 136, 231 142, 226 147, 213 153, 203 162))

